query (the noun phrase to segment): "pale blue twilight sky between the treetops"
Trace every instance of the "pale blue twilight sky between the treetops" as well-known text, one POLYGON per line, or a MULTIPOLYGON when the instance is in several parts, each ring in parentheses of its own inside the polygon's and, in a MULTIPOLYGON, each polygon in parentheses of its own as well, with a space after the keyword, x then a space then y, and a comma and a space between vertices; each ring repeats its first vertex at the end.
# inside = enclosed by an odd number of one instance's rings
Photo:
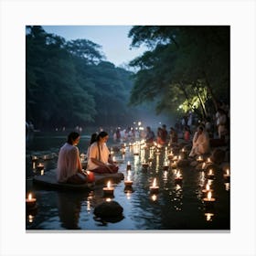
POLYGON ((128 37, 131 26, 43 26, 48 33, 67 40, 89 39, 100 45, 108 61, 115 66, 128 63, 140 56, 145 48, 130 48, 132 38, 128 37))

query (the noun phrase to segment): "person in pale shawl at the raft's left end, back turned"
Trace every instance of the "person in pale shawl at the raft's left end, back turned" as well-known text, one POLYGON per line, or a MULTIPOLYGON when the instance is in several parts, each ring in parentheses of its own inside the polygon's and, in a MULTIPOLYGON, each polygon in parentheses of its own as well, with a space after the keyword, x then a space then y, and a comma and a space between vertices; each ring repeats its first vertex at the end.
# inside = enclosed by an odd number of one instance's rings
POLYGON ((80 133, 69 133, 67 142, 59 150, 57 180, 59 183, 84 184, 87 174, 82 171, 80 151, 77 145, 80 133))

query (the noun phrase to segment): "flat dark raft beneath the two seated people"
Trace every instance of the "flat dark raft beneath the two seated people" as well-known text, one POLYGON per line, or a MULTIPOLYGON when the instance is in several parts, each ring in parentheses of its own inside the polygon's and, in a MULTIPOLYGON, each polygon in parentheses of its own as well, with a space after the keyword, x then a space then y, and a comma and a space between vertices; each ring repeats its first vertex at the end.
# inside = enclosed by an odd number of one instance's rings
POLYGON ((56 177, 57 169, 49 170, 45 172, 43 176, 34 176, 33 183, 56 189, 66 189, 66 190, 90 190, 96 187, 104 187, 108 181, 113 183, 118 183, 123 180, 123 173, 116 174, 94 174, 95 180, 91 183, 85 183, 81 185, 74 185, 69 183, 59 183, 56 177))

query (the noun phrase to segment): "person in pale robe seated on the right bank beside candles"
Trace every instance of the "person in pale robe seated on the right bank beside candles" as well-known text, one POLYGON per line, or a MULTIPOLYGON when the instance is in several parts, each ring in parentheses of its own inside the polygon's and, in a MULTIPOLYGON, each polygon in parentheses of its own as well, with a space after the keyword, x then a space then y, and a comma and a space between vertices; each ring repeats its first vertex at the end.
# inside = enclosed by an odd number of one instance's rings
POLYGON ((204 155, 209 152, 209 138, 208 133, 204 131, 203 126, 197 127, 197 132, 193 137, 193 145, 191 152, 189 154, 190 157, 194 157, 195 155, 204 155))

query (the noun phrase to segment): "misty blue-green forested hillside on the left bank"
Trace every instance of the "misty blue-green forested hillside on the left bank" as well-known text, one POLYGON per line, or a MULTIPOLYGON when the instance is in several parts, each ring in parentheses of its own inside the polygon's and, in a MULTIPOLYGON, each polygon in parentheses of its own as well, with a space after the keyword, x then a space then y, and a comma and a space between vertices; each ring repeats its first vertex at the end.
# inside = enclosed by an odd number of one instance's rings
POLYGON ((28 26, 27 122, 38 129, 132 123, 132 72, 104 59, 101 46, 90 40, 66 41, 28 26))

